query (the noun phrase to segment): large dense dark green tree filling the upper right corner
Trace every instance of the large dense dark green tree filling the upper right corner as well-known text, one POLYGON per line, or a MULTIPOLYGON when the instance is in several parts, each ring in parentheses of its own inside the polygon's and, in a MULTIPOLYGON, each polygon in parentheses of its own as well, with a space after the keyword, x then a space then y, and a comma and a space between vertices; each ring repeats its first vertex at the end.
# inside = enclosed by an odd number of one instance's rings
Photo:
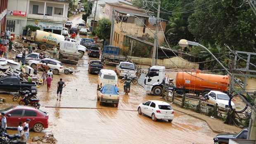
POLYGON ((200 7, 189 17, 189 31, 202 44, 234 46, 255 51, 255 15, 244 0, 196 0, 200 7))

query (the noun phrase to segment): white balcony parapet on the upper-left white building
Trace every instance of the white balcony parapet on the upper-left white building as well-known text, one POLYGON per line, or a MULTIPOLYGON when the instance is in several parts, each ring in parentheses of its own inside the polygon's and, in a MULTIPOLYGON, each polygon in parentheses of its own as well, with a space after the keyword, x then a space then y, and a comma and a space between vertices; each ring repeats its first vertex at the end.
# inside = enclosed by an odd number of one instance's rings
MULTIPOLYGON (((61 15, 62 16, 62 15, 61 15)), ((43 14, 28 14, 28 19, 38 19, 45 21, 56 21, 56 22, 66 22, 68 18, 66 17, 55 17, 55 16, 47 16, 43 14)))

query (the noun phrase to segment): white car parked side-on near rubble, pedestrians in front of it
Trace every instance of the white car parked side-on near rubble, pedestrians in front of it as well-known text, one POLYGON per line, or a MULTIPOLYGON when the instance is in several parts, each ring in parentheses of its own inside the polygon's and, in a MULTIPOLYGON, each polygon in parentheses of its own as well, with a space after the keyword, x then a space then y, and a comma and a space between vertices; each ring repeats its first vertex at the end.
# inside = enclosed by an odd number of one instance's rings
POLYGON ((31 66, 31 68, 36 69, 37 64, 44 64, 48 65, 49 68, 53 69, 52 73, 55 75, 58 75, 59 73, 64 72, 64 68, 61 61, 57 61, 56 59, 50 59, 45 58, 42 60, 30 60, 28 61, 28 65, 31 66))

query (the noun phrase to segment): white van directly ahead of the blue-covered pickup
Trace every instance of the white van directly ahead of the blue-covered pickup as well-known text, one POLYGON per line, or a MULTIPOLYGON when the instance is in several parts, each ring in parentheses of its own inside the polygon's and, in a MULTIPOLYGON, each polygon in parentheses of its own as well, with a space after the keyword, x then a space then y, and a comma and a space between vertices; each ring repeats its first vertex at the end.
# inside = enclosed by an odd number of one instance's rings
POLYGON ((105 84, 117 85, 117 75, 115 71, 109 69, 101 69, 98 77, 98 87, 105 84))

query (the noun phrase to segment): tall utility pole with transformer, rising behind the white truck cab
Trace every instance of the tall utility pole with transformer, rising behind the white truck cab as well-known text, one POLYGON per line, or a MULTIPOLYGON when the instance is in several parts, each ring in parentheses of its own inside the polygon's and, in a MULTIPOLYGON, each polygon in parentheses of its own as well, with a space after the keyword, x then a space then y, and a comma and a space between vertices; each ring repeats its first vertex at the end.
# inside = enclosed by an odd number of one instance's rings
POLYGON ((158 24, 160 22, 160 7, 161 7, 161 0, 158 0, 158 9, 157 9, 157 17, 156 17, 156 32, 154 35, 154 48, 153 48, 153 55, 152 55, 152 66, 156 65, 156 46, 158 45, 158 24))

